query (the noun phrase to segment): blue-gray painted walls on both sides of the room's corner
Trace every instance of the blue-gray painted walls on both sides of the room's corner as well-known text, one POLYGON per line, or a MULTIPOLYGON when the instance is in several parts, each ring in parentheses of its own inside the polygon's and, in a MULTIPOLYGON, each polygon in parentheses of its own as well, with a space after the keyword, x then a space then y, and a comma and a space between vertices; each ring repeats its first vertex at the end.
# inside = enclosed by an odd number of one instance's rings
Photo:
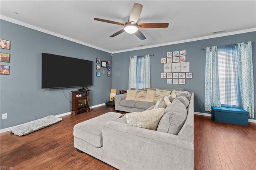
MULTIPOLYGON (((0 49, 3 53, 10 53, 10 63, 1 62, 1 65, 10 65, 10 75, 0 75, 0 114, 8 113, 8 119, 0 119, 0 129, 20 125, 47 115, 59 115, 71 111, 69 102, 71 91, 77 90, 78 87, 64 88, 64 93, 62 89, 41 89, 42 52, 93 61, 95 71, 93 72, 93 86, 89 87, 91 90, 90 106, 108 101, 110 89, 117 89, 117 91, 128 89, 130 56, 154 54, 151 57, 151 87, 183 87, 194 92, 195 112, 202 113, 207 112, 204 111, 206 51, 201 48, 252 41, 254 70, 256 66, 254 57, 256 32, 116 53, 111 57, 110 53, 4 20, 0 20, 0 28, 1 39, 11 42, 10 50, 0 49), (185 85, 166 84, 166 79, 161 79, 160 76, 163 73, 161 58, 165 58, 168 51, 180 50, 186 50, 186 61, 190 61, 190 72, 193 73, 193 78, 186 79, 185 85), (112 61, 111 77, 107 77, 106 73, 105 75, 101 73, 100 77, 96 77, 96 58, 112 61)), ((254 80, 256 80, 255 71, 254 80)), ((256 87, 256 81, 254 81, 254 87, 256 87)), ((256 108, 256 102, 254 103, 256 108)))

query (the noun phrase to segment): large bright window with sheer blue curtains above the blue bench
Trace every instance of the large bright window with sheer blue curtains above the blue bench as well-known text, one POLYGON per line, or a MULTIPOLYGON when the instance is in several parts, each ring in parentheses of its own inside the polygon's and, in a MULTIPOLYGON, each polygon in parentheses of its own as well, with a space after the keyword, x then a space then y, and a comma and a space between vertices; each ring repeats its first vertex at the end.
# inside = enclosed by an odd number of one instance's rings
POLYGON ((222 107, 240 107, 237 46, 218 47, 218 75, 222 107))

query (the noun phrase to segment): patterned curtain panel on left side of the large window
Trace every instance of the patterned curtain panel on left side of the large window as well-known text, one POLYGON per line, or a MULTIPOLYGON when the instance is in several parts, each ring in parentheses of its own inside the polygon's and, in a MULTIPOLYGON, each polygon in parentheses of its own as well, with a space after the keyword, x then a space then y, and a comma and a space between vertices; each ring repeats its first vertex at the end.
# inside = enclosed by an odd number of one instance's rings
POLYGON ((211 111, 212 106, 220 107, 217 46, 206 48, 204 109, 211 111))

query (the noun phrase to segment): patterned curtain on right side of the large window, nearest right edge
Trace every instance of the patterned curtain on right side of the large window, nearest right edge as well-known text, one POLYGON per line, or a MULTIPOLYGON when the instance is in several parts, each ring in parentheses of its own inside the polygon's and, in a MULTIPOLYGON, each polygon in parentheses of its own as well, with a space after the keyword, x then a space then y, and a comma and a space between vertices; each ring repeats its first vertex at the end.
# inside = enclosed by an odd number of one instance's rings
POLYGON ((238 77, 242 108, 254 118, 254 79, 252 67, 252 42, 238 43, 238 77))

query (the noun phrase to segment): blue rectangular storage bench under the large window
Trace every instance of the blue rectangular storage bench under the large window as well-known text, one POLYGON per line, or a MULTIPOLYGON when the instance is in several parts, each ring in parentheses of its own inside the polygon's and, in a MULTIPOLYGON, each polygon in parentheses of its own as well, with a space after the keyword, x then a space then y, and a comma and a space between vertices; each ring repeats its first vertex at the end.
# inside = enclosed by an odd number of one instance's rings
POLYGON ((248 126, 248 111, 236 108, 212 107, 212 120, 248 126))

